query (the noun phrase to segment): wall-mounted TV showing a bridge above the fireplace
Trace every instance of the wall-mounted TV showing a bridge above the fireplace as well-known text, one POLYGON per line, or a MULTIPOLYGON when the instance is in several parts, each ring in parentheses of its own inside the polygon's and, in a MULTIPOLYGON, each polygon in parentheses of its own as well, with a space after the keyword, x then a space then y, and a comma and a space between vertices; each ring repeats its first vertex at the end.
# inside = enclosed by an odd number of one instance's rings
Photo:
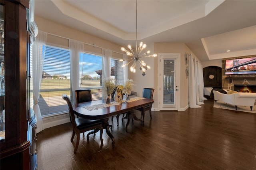
POLYGON ((256 57, 225 60, 225 74, 256 74, 256 57))

